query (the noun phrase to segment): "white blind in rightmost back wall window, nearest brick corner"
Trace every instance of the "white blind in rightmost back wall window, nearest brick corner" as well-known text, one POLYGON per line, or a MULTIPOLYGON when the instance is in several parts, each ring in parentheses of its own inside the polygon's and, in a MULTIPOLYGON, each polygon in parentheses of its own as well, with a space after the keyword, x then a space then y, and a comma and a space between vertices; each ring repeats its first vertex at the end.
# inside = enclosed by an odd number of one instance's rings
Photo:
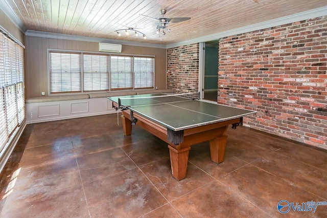
POLYGON ((134 88, 153 88, 154 58, 134 57, 134 88))

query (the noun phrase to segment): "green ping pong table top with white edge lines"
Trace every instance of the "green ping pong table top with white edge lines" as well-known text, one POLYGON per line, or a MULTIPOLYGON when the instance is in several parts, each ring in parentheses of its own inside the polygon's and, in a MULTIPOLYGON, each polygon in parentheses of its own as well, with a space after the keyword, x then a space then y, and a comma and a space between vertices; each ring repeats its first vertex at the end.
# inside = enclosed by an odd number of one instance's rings
POLYGON ((241 118, 256 113, 256 111, 242 108, 165 94, 115 96, 108 97, 108 99, 118 104, 120 108, 129 109, 174 131, 241 118))

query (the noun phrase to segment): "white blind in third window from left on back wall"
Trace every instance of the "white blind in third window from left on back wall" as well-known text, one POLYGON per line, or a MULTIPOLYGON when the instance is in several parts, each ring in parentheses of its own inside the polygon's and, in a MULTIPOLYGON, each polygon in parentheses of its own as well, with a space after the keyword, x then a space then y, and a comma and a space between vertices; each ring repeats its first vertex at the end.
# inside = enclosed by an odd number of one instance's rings
POLYGON ((110 56, 110 89, 133 89, 133 57, 110 56))

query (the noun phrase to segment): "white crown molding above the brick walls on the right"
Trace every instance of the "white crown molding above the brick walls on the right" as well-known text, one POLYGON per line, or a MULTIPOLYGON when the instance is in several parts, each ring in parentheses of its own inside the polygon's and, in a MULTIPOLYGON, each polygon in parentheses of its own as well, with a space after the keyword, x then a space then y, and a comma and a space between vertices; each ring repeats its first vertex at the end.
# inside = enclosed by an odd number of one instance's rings
POLYGON ((178 46, 190 45, 190 44, 198 43, 198 42, 213 41, 213 40, 217 40, 219 38, 226 37, 226 36, 237 35, 237 34, 247 33, 247 32, 256 31, 256 30, 262 30, 262 29, 266 29, 266 28, 270 28, 270 27, 290 24, 290 23, 300 21, 300 20, 306 20, 306 19, 311 19, 311 18, 320 17, 320 16, 326 16, 326 15, 327 15, 327 6, 309 10, 309 11, 305 11, 305 12, 301 12, 301 13, 297 13, 297 14, 292 14, 292 15, 285 16, 285 17, 268 20, 268 21, 254 24, 254 25, 249 25, 249 26, 245 26, 245 27, 241 27, 241 28, 237 28, 237 29, 233 29, 233 30, 224 31, 221 33, 215 33, 212 35, 194 38, 194 39, 187 40, 187 41, 173 43, 173 44, 167 45, 167 49, 175 48, 178 46))

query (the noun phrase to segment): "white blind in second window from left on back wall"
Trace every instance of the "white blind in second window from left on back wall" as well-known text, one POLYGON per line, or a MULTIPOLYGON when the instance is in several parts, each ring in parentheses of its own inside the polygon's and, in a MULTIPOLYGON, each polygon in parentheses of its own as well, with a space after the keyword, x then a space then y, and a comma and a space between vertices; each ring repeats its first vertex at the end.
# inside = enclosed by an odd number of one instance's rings
POLYGON ((108 55, 83 55, 83 88, 85 92, 109 90, 108 55))

